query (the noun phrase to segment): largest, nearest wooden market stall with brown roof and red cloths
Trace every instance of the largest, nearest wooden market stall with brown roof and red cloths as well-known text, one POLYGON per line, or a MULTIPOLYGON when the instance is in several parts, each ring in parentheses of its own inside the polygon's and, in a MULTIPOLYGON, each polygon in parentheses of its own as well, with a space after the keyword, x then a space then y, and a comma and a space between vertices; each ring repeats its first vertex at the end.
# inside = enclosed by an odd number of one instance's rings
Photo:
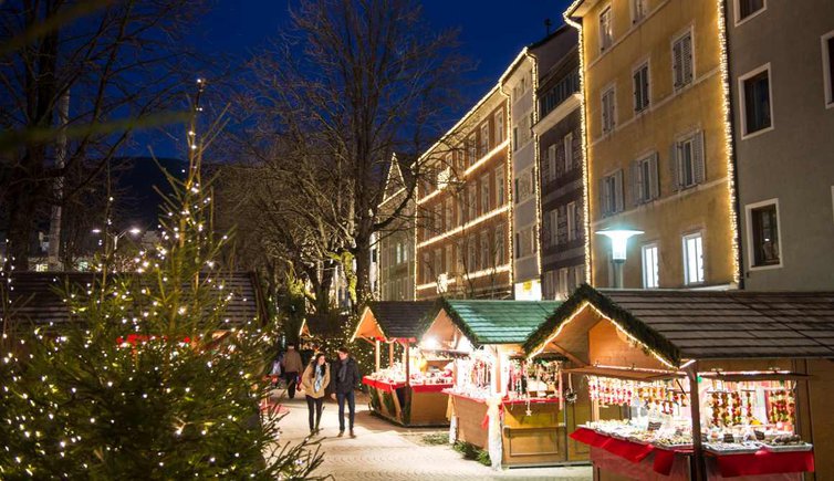
POLYGON ((583 285, 524 349, 583 376, 595 480, 834 479, 834 293, 583 285))

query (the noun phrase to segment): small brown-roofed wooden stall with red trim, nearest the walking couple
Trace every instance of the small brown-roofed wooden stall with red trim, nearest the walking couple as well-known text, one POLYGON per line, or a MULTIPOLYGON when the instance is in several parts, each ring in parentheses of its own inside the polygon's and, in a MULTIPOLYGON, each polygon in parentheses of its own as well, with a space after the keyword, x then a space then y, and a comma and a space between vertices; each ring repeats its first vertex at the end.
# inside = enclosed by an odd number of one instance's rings
POLYGON ((352 337, 375 346, 375 370, 362 379, 368 387, 371 409, 403 426, 448 425, 448 397, 444 389, 451 386, 445 369, 449 359, 429 355, 416 346, 432 306, 431 301, 372 302, 363 311, 352 337), (395 354, 397 345, 400 356, 395 354), (382 367, 383 351, 387 351, 386 368, 382 367))

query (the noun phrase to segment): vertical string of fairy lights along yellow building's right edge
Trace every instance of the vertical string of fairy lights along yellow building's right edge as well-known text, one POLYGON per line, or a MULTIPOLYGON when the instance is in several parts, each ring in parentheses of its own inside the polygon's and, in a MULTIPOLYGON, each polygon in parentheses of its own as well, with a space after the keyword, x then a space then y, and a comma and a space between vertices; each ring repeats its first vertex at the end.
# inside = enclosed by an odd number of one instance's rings
POLYGON ((741 262, 739 254, 739 218, 736 212, 736 166, 733 164, 733 139, 730 111, 730 73, 727 53, 727 19, 724 15, 724 6, 722 0, 717 0, 718 8, 718 44, 721 66, 721 113, 723 114, 723 134, 724 147, 727 149, 727 190, 728 190, 728 210, 730 215, 730 247, 732 251, 732 282, 737 286, 741 281, 741 262))

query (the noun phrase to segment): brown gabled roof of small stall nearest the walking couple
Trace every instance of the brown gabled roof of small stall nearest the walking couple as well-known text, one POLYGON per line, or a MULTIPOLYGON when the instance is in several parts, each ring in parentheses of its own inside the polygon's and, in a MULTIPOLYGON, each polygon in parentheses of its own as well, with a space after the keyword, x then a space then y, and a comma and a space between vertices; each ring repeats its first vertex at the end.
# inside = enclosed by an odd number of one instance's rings
POLYGON ((432 301, 374 301, 368 303, 354 336, 365 328, 393 339, 417 339, 428 326, 432 301), (368 324, 376 323, 376 330, 368 324))

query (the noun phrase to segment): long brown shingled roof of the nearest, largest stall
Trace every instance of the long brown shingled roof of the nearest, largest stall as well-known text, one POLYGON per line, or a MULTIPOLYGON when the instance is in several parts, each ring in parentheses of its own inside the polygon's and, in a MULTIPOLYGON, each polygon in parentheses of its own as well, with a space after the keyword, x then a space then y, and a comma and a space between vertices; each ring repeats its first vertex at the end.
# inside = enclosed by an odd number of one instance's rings
POLYGON ((583 284, 524 344, 541 348, 590 303, 674 364, 834 357, 834 292, 595 290, 583 284))

